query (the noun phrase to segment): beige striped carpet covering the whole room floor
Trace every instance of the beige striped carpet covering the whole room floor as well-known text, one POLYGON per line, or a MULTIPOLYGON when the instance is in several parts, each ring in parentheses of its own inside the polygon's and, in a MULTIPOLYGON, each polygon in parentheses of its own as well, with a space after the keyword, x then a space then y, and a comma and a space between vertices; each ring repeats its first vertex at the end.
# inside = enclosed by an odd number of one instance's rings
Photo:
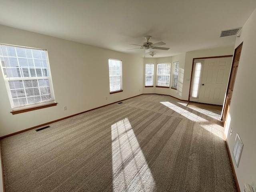
POLYGON ((235 192, 222 122, 141 95, 1 140, 6 192, 235 192))

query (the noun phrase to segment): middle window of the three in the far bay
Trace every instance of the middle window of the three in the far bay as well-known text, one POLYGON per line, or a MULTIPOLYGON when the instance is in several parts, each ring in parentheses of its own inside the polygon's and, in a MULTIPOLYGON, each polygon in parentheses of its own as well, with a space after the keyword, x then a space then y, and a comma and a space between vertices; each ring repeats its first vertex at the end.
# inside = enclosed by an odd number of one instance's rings
POLYGON ((156 86, 169 88, 169 86, 170 86, 170 71, 171 71, 170 63, 157 64, 156 86))

